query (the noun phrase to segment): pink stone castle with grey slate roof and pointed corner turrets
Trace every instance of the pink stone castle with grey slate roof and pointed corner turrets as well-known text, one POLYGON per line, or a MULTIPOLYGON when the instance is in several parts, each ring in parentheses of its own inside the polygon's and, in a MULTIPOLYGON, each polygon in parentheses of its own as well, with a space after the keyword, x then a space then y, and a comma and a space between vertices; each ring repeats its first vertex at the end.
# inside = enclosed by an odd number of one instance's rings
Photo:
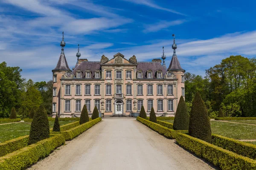
MULTIPOLYGON (((174 36, 174 35, 173 35, 174 36)), ((177 59, 175 36, 173 55, 168 68, 163 48, 161 59, 139 62, 135 56, 126 59, 117 53, 113 58, 102 55, 100 61, 80 59, 70 70, 64 54, 64 33, 61 55, 53 73, 52 116, 79 117, 86 105, 88 113, 96 106, 104 116, 139 113, 154 108, 157 116, 174 116, 180 96, 185 96, 184 72, 177 59)))

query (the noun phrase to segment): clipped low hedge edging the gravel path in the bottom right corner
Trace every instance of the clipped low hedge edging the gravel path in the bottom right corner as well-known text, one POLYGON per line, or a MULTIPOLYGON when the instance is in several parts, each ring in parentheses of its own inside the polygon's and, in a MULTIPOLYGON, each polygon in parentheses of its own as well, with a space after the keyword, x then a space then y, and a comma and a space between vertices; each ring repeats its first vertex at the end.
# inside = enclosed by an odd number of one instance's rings
POLYGON ((209 144, 187 134, 178 133, 176 141, 182 147, 195 153, 223 170, 255 170, 256 161, 221 147, 209 144))

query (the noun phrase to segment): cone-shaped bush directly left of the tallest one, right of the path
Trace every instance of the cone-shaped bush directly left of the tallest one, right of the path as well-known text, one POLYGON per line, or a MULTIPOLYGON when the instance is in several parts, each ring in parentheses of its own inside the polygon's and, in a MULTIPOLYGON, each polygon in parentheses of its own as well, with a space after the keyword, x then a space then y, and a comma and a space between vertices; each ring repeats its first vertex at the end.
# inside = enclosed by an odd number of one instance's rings
POLYGON ((173 122, 173 129, 189 130, 189 112, 183 96, 180 97, 180 101, 173 122))

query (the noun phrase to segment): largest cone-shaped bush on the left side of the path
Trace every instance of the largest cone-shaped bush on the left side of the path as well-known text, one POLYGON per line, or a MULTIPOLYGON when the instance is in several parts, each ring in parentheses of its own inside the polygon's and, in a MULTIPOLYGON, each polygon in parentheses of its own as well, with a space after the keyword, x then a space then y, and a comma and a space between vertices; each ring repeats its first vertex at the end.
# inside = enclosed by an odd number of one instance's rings
POLYGON ((41 105, 35 112, 33 117, 30 132, 29 132, 29 144, 36 143, 43 139, 47 139, 50 136, 50 128, 47 113, 44 106, 41 105))

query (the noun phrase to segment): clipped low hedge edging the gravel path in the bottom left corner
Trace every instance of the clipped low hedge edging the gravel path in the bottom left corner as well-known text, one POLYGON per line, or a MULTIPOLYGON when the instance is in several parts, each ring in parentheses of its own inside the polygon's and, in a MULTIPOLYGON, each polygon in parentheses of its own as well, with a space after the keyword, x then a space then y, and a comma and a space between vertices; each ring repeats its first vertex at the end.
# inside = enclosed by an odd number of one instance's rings
POLYGON ((54 135, 35 144, 0 157, 0 170, 23 170, 49 155, 56 147, 65 143, 62 135, 54 135))

